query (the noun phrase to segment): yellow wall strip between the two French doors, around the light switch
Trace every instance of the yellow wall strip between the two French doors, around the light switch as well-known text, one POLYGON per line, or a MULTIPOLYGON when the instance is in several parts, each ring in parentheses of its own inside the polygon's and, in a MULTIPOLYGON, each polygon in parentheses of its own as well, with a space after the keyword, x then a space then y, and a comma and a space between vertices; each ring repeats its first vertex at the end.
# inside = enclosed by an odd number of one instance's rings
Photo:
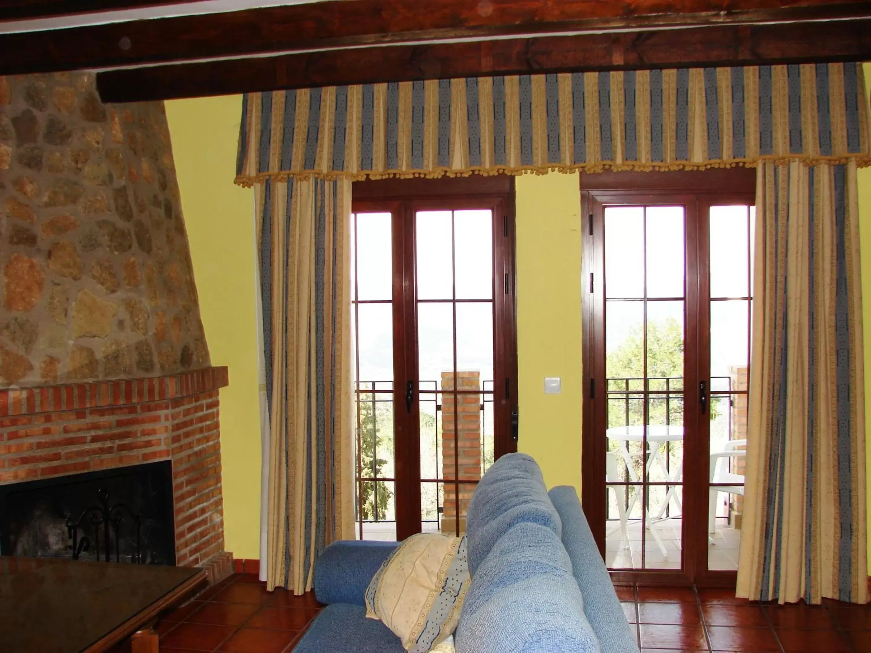
POLYGON ((581 194, 578 175, 517 178, 518 450, 544 482, 581 493, 581 194), (544 394, 544 377, 562 394, 544 394))

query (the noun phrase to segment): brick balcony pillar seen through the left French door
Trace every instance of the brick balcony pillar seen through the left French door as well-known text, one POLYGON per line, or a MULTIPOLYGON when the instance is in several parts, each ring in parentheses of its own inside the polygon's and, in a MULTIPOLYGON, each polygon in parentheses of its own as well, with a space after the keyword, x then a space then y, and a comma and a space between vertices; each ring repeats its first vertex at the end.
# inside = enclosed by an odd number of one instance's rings
MULTIPOLYGON (((457 372, 457 390, 481 392, 480 372, 457 372)), ((454 373, 442 372, 442 478, 454 479, 456 462, 459 461, 459 476, 463 480, 481 478, 481 395, 450 394, 454 389, 454 373), (456 423, 455 423, 456 418, 456 423), (455 448, 456 428, 456 448, 455 448), (457 458, 458 454, 458 458, 457 458)), ((456 531, 457 502, 459 502, 460 531, 466 530, 466 515, 474 485, 461 485, 460 495, 456 496, 453 483, 444 484, 444 511, 442 512, 442 532, 456 531)))

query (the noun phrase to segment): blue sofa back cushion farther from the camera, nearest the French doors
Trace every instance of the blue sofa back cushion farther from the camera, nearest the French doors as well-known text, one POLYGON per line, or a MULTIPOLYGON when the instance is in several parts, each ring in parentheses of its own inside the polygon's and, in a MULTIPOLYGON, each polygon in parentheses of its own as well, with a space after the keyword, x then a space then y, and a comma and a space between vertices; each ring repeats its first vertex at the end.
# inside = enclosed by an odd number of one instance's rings
POLYGON ((526 454, 506 454, 483 475, 469 502, 466 532, 473 578, 496 541, 521 522, 541 524, 557 537, 562 534, 538 463, 526 454))

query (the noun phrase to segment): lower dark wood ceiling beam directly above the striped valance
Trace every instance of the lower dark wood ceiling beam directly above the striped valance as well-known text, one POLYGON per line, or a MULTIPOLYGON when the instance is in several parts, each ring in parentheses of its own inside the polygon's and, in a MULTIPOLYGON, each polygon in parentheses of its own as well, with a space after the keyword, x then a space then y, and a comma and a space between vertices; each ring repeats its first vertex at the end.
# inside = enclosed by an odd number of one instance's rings
POLYGON ((99 73, 104 102, 416 79, 863 61, 871 19, 333 50, 99 73))

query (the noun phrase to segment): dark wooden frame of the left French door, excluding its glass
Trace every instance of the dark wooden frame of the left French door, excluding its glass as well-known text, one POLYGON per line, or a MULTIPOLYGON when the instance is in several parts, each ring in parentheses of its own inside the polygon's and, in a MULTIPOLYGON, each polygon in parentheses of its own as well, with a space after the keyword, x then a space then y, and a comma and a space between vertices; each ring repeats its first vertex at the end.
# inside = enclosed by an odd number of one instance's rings
POLYGON ((415 212, 474 208, 493 211, 493 406, 495 458, 498 458, 517 451, 517 441, 512 439, 511 432, 511 414, 517 410, 514 178, 476 176, 355 182, 352 198, 354 212, 384 211, 394 215, 395 515, 396 537, 402 540, 419 532, 421 525, 415 212), (496 382, 502 379, 505 380, 504 386, 496 382), (406 410, 408 381, 415 384, 415 390, 411 407, 406 410), (401 492, 400 488, 406 491, 401 492))

